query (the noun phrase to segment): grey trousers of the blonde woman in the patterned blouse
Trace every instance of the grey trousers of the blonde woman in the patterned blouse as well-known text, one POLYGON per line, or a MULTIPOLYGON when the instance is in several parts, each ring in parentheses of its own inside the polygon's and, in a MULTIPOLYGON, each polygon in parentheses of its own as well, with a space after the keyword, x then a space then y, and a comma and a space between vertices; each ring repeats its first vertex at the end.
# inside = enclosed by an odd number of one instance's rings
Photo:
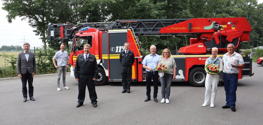
POLYGON ((171 92, 171 83, 173 80, 174 74, 164 73, 164 76, 160 78, 161 86, 162 86, 162 98, 168 98, 171 92), (166 97, 165 97, 166 95, 166 97))

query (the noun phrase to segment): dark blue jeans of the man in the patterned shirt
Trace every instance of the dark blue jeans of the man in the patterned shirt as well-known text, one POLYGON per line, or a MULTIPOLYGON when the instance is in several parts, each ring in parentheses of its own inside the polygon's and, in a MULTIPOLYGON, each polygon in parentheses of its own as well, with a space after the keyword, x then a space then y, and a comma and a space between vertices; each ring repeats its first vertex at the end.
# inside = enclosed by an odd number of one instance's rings
POLYGON ((226 91, 226 105, 236 107, 236 90, 238 74, 228 75, 224 73, 224 87, 226 91))

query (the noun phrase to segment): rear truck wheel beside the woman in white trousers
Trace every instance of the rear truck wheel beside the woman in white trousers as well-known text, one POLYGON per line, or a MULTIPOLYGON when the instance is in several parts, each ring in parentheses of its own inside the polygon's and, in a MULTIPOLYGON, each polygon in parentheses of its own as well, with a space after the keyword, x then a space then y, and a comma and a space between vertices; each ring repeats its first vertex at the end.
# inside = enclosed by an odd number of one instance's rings
POLYGON ((189 73, 188 81, 194 87, 204 87, 206 82, 206 71, 204 68, 196 67, 189 73))

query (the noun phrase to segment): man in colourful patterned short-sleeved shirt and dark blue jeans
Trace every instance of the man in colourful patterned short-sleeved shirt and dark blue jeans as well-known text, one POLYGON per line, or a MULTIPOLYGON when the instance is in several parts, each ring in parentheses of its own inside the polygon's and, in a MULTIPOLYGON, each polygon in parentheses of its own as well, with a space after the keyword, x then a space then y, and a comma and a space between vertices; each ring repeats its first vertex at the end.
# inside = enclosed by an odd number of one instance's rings
POLYGON ((239 68, 244 68, 244 60, 242 55, 234 51, 234 45, 228 44, 228 53, 223 56, 223 72, 224 72, 224 87, 226 91, 226 105, 222 108, 231 108, 236 111, 236 90, 238 83, 239 68))

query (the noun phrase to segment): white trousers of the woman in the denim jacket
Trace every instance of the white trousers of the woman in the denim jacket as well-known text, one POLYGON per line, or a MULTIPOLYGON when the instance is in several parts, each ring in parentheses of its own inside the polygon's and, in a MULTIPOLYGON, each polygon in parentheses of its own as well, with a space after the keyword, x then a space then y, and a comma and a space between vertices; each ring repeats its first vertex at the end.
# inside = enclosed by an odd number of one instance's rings
POLYGON ((205 102, 209 101, 209 96, 210 96, 210 92, 211 92, 211 86, 212 86, 211 102, 213 102, 213 103, 215 102, 218 82, 219 82, 219 74, 216 74, 216 75, 206 74, 205 102))

